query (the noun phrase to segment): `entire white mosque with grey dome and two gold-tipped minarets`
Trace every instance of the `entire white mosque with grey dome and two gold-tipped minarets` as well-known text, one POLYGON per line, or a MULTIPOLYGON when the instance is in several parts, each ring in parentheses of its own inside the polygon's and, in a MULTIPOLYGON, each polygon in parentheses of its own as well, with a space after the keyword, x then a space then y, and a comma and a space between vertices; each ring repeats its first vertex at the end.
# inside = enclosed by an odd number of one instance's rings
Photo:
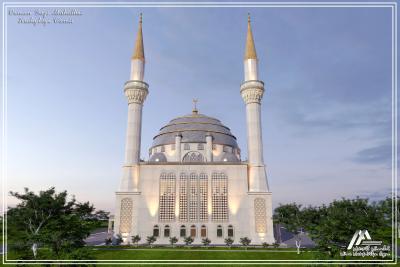
MULTIPOLYGON (((161 127, 149 148, 149 159, 140 160, 142 108, 149 94, 145 82, 142 18, 133 56, 130 79, 125 83, 128 123, 125 161, 116 192, 114 235, 125 243, 139 235, 141 242, 155 236, 155 244, 182 244, 208 238, 238 244, 275 242, 272 225, 272 193, 263 159, 261 100, 264 83, 258 78, 258 58, 248 18, 244 53, 244 81, 240 95, 246 110, 247 155, 241 159, 236 137, 220 120, 200 114, 172 119, 161 127)), ((239 89, 239 88, 238 88, 239 89)))

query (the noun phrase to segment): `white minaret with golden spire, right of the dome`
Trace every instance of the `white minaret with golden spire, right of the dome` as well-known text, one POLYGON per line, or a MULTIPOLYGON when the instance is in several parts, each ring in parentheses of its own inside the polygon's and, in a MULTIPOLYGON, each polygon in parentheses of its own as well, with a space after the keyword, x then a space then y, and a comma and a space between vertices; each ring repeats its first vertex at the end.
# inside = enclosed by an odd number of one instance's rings
POLYGON ((240 87, 240 94, 246 104, 249 192, 268 192, 261 129, 261 99, 264 94, 264 83, 258 80, 258 59, 251 32, 250 15, 247 21, 243 63, 244 82, 240 87))

